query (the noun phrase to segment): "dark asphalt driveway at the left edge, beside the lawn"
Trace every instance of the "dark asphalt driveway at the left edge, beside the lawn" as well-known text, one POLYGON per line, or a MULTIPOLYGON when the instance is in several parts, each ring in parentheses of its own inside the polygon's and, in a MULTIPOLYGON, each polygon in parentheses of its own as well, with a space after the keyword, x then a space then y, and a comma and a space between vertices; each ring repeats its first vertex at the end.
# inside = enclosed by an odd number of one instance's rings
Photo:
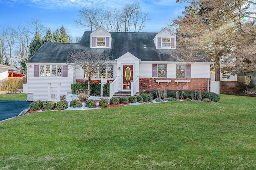
POLYGON ((18 116, 21 111, 28 109, 31 102, 0 100, 0 121, 18 116))

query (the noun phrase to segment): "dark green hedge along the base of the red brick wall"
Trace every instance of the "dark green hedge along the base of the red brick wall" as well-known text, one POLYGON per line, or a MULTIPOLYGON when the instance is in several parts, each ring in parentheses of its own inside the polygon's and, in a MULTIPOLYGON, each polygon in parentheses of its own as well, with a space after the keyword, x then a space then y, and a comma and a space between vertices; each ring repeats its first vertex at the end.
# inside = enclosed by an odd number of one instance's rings
MULTIPOLYGON (((177 90, 166 90, 167 91, 167 98, 176 98, 176 92, 177 90)), ((189 98, 191 99, 191 94, 195 93, 196 98, 198 98, 199 92, 195 91, 188 91, 188 90, 179 90, 180 94, 184 93, 184 99, 189 98)), ((146 91, 145 93, 151 95, 153 99, 156 98, 156 90, 153 91, 146 91)), ((204 98, 208 98, 209 100, 213 102, 218 102, 220 100, 220 96, 214 92, 202 92, 202 100, 204 98)))

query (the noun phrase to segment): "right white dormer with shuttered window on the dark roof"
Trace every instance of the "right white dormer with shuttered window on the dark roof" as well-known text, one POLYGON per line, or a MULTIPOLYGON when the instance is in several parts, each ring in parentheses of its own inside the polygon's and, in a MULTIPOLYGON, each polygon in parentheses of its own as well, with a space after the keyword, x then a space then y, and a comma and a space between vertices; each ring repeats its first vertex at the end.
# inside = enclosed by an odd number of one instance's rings
POLYGON ((157 49, 176 49, 176 34, 170 29, 164 28, 154 37, 157 49))

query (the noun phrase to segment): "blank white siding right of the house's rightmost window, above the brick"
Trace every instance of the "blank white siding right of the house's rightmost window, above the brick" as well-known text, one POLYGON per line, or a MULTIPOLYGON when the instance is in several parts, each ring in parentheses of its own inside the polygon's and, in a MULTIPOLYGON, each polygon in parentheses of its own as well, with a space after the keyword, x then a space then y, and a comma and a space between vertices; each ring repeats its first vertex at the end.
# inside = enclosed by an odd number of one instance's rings
POLYGON ((210 78, 210 64, 191 64, 191 78, 210 78))

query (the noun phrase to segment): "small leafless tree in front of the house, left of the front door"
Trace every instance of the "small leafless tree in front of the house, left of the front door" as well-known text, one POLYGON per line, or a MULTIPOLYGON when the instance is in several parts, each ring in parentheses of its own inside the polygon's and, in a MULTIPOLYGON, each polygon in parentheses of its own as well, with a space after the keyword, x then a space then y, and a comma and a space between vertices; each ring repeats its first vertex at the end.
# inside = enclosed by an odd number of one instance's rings
POLYGON ((67 64, 75 69, 84 70, 84 74, 88 78, 88 90, 90 91, 91 79, 95 72, 99 68, 110 64, 111 58, 112 55, 109 51, 78 50, 69 54, 67 64))

